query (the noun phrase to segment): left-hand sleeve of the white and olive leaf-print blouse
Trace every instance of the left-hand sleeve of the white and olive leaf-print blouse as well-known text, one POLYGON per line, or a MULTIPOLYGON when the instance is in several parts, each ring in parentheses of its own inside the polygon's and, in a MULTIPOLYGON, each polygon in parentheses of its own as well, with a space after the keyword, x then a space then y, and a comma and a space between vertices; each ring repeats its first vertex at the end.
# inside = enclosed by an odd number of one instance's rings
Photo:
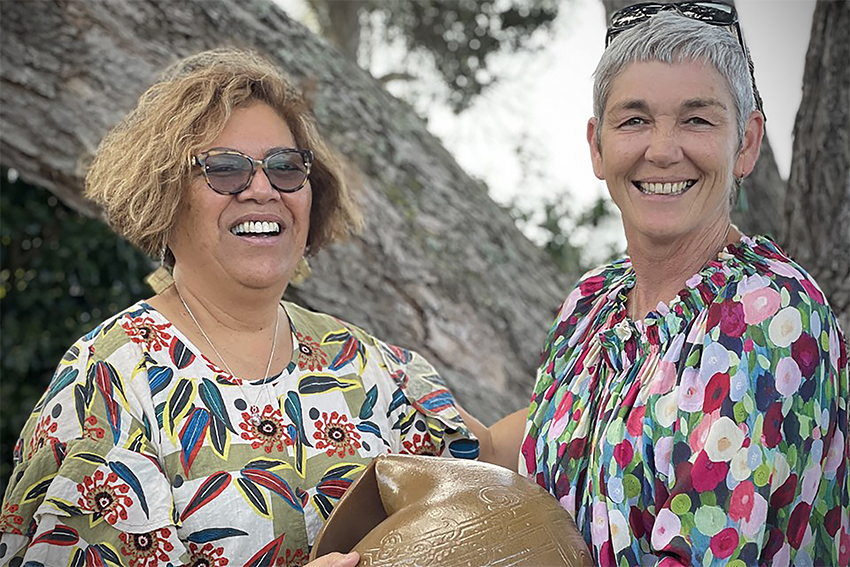
POLYGON ((16 447, 0 516, 0 564, 188 559, 157 459, 141 358, 123 330, 108 324, 66 353, 16 447))

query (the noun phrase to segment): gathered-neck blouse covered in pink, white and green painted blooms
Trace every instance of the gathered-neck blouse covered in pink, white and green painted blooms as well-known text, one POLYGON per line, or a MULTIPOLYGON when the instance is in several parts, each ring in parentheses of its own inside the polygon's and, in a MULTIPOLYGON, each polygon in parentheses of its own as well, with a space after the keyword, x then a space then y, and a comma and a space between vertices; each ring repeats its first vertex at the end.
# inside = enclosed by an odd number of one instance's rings
POLYGON ((598 565, 850 565, 844 338, 812 279, 743 237, 643 321, 628 259, 547 339, 520 470, 598 565))

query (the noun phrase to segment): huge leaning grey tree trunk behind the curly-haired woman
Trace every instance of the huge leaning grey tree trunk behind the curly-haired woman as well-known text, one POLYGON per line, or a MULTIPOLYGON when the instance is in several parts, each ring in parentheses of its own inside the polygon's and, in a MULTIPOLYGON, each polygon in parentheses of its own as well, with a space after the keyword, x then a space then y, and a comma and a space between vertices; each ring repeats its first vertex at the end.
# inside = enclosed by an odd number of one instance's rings
POLYGON ((266 0, 0 2, 0 157, 77 210, 84 164, 166 64, 222 43, 276 60, 346 157, 366 228, 292 289, 414 348, 486 422, 528 403, 575 278, 557 273, 407 105, 266 0))

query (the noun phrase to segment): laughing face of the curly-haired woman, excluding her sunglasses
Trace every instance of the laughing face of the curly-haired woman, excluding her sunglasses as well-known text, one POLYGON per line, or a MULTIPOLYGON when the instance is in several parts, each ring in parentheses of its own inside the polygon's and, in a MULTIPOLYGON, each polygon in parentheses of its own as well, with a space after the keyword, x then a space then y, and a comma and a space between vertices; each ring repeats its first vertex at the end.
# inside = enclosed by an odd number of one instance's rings
MULTIPOLYGON (((294 148, 295 140, 274 109, 255 103, 235 109, 210 147, 262 159, 274 150, 294 148)), ((177 266, 212 281, 285 286, 307 242, 310 182, 282 193, 258 169, 244 191, 222 195, 207 186, 200 169, 196 172, 169 237, 177 266)))

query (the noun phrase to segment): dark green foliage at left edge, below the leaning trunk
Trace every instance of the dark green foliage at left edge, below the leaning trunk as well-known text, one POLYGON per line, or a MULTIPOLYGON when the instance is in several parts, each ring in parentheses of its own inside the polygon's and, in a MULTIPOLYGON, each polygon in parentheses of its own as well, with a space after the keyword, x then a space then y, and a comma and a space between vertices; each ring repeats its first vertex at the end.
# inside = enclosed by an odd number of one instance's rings
POLYGON ((71 344, 150 295, 151 261, 102 222, 0 168, 0 487, 30 410, 71 344))

